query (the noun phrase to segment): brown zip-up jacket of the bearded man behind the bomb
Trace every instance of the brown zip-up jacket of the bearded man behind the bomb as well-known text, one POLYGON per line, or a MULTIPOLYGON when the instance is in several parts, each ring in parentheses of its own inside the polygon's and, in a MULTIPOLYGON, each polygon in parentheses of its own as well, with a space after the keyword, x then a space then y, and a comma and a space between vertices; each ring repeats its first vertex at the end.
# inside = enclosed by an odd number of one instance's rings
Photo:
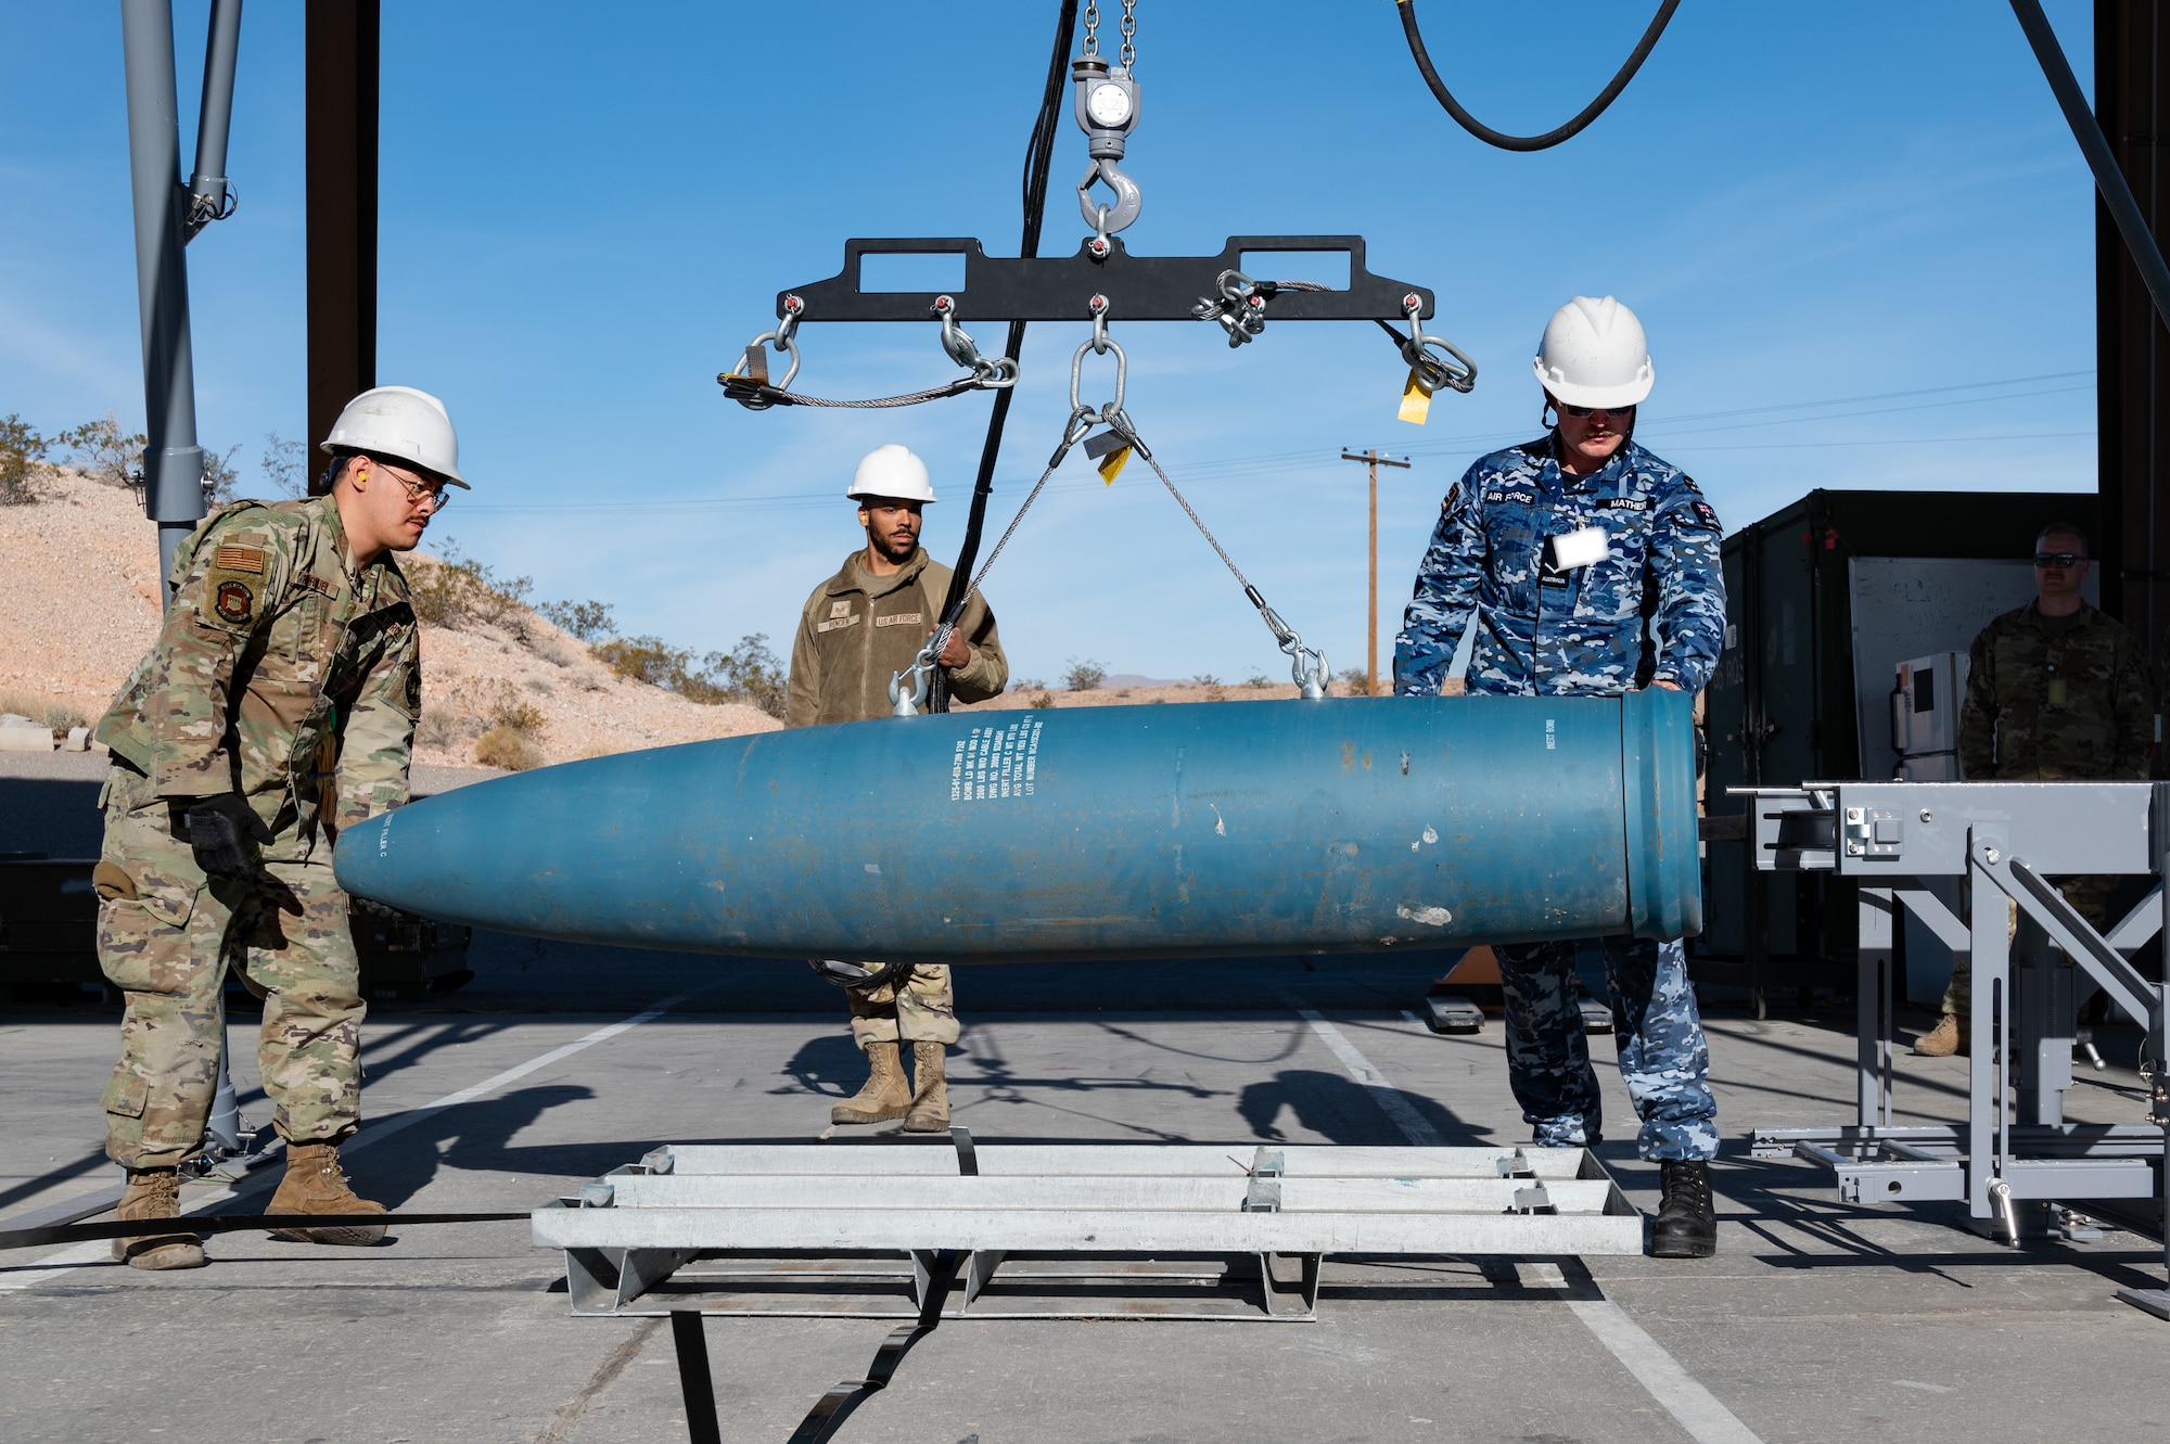
MULTIPOLYGON (((825 726, 890 715, 890 676, 911 666, 942 618, 950 568, 916 549, 890 577, 866 570, 866 549, 844 557, 835 577, 814 588, 792 640, 786 726, 825 726)), ((948 670, 959 702, 1000 696, 1009 659, 994 611, 976 592, 957 618, 972 659, 948 670)), ((909 683, 909 679, 907 679, 909 683)))

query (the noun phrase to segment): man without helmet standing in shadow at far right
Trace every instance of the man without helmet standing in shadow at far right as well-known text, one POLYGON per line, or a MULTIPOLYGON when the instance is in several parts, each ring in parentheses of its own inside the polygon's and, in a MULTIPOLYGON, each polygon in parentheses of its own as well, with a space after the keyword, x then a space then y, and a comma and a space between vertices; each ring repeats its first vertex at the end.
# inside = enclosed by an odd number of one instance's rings
MULTIPOLYGON (((2155 702, 2140 642, 2081 598, 2088 538, 2053 523, 2035 538, 2035 598, 1975 637, 1960 705, 1960 770, 1966 781, 2146 781, 2155 750, 2155 702)), ((2057 878, 2096 930, 2109 926, 2114 876, 2057 878)), ((2012 908, 2018 930, 2018 908, 2012 908)), ((1968 1052, 1975 969, 1953 958, 1944 1017, 1914 1043, 1927 1058, 1968 1052)))

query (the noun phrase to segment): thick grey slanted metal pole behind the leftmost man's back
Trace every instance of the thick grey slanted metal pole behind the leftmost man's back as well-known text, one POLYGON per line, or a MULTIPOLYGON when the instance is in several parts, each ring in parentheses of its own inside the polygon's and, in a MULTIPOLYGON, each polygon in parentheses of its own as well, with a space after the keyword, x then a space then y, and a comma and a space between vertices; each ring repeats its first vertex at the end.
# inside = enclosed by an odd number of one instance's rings
POLYGON ((128 67, 137 299, 143 310, 143 510, 158 523, 158 575, 171 583, 174 549, 204 518, 189 265, 180 252, 187 191, 180 186, 171 0, 122 0, 122 46, 128 67))

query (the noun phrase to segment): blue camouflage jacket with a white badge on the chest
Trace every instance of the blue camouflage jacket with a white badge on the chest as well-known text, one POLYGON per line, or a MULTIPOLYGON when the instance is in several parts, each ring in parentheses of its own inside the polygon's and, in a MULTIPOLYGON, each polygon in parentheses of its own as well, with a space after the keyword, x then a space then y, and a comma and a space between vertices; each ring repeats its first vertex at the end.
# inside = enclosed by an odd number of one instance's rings
POLYGON ((1701 692, 1725 640, 1721 536, 1695 481, 1634 440, 1588 477, 1560 470, 1556 436, 1495 451, 1441 503, 1393 642, 1395 692, 1445 689, 1469 629, 1469 692, 1701 692), (1591 527, 1606 555, 1556 566, 1556 540, 1591 527))

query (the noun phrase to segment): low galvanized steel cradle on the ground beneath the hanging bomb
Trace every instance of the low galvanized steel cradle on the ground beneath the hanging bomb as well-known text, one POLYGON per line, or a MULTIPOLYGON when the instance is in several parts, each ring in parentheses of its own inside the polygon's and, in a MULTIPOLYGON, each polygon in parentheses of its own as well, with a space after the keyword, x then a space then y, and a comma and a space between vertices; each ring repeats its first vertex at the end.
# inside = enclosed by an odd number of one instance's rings
POLYGON ((601 1316, 1309 1320, 1335 1253, 1643 1251, 1643 1216, 1586 1149, 974 1147, 950 1132, 955 1156, 662 1147, 536 1210, 534 1240, 564 1249, 573 1312, 601 1316))

